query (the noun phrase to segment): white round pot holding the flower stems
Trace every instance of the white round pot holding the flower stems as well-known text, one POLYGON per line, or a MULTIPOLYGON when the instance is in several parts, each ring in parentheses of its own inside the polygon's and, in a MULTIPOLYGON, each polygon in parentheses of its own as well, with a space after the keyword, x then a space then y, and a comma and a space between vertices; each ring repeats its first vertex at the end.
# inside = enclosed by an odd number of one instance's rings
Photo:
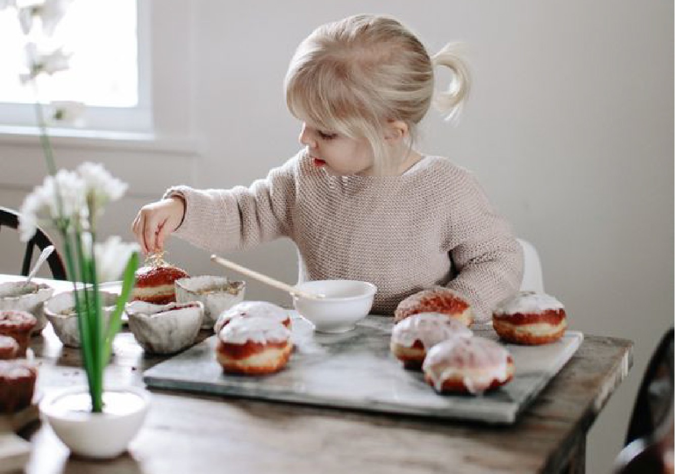
POLYGON ((103 404, 103 413, 92 413, 88 388, 76 386, 46 396, 40 412, 72 452, 109 459, 124 452, 138 433, 150 393, 132 386, 109 387, 103 392, 103 404))

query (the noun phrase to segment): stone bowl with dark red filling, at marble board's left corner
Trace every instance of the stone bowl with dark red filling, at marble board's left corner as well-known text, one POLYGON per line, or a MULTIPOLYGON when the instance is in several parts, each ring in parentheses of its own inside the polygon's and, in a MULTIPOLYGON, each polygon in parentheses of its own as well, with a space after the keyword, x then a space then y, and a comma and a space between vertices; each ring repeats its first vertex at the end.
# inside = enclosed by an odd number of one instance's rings
POLYGON ((127 303, 126 313, 129 328, 146 353, 173 354, 194 343, 204 320, 204 304, 132 301, 127 303))

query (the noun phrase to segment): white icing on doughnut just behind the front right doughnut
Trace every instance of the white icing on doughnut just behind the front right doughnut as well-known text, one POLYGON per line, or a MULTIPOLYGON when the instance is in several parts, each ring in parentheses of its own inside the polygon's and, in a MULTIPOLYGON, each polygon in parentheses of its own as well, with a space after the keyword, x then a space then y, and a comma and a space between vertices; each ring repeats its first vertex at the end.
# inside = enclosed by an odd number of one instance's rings
POLYGON ((396 324, 391 330, 391 342, 412 347, 419 340, 428 351, 434 345, 452 337, 470 337, 473 332, 462 322, 443 313, 419 313, 396 324))

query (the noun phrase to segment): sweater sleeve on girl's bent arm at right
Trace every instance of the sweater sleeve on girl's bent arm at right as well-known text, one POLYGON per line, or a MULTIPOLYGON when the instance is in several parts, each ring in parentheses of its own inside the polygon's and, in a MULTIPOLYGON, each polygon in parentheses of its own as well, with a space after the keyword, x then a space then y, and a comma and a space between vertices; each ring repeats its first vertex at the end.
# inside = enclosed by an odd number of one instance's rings
POLYGON ((450 206, 446 245, 456 277, 447 286, 467 297, 477 320, 485 322, 499 301, 518 291, 522 248, 468 171, 460 172, 458 192, 450 206))

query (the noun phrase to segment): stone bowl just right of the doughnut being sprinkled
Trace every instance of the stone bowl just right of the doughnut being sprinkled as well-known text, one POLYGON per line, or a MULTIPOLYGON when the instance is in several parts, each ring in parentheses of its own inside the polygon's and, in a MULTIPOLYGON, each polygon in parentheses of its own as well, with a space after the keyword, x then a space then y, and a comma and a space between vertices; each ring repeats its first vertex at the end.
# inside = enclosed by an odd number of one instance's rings
POLYGON ((201 301, 204 304, 203 327, 209 329, 222 312, 241 303, 246 293, 246 282, 231 281, 225 276, 179 278, 174 285, 178 303, 201 301))

